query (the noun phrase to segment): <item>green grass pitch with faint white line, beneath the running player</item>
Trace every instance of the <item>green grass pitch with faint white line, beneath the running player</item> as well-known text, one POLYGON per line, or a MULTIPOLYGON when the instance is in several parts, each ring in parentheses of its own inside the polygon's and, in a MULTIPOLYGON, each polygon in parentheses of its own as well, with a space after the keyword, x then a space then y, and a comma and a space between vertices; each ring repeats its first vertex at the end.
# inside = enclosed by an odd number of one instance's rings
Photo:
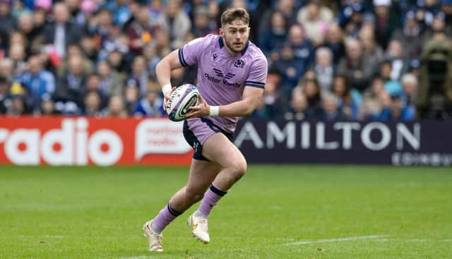
POLYGON ((451 258, 452 170, 256 166, 213 210, 149 253, 141 227, 186 167, 0 167, 0 258, 451 258))

